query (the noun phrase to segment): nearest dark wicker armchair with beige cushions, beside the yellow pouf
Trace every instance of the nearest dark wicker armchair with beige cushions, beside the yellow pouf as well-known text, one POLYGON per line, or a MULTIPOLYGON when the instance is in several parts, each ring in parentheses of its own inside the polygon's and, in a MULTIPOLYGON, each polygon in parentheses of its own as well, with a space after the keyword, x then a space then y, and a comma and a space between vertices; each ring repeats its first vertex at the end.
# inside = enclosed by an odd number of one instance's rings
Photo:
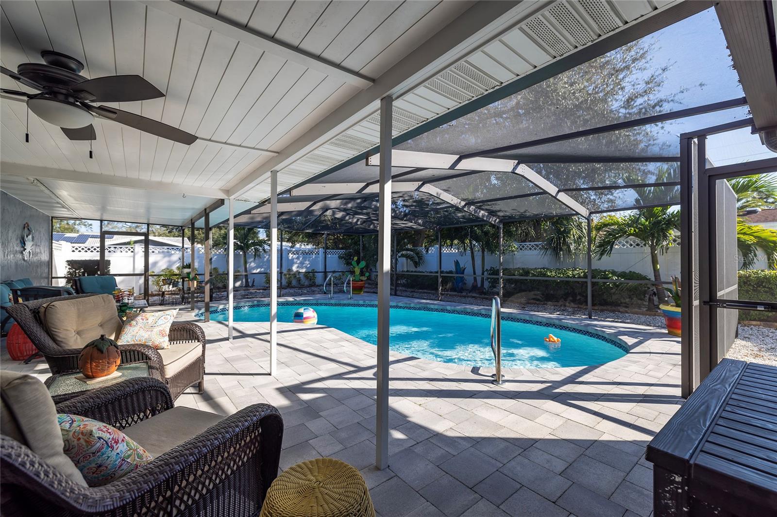
POLYGON ((259 515, 277 476, 284 425, 269 404, 228 417, 174 408, 167 387, 148 378, 58 404, 32 376, 2 372, 0 389, 0 509, 7 517, 259 515), (57 413, 113 425, 154 460, 110 484, 85 486, 62 453, 57 413))

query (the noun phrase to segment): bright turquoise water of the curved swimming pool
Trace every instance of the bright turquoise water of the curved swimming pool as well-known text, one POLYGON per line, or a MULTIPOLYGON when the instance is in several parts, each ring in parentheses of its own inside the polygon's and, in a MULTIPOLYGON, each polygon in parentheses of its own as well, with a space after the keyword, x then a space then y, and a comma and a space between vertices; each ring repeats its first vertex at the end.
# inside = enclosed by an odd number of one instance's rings
MULTIPOLYGON (((298 307, 313 307, 319 315, 319 324, 373 345, 378 343, 378 309, 374 303, 279 302, 278 321, 291 323, 298 307)), ((234 315, 235 321, 270 321, 270 307, 267 302, 242 304, 235 307, 234 315)), ((211 320, 226 321, 225 307, 212 310, 211 320)), ((407 356, 443 363, 493 366, 490 325, 490 314, 392 304, 391 349, 407 356)), ((582 328, 502 314, 504 367, 588 366, 618 359, 625 356, 627 350, 619 340, 582 328), (545 342, 548 334, 561 338, 560 345, 545 342)))

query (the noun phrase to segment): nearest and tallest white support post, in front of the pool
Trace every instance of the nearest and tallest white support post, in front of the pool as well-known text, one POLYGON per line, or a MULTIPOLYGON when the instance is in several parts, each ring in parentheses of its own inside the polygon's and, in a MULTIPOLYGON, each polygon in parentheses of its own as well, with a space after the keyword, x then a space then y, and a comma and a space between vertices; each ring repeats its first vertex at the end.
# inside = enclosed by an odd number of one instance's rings
POLYGON ((375 466, 389 467, 389 307, 391 303, 391 147, 392 98, 381 99, 378 190, 378 396, 375 413, 375 466))

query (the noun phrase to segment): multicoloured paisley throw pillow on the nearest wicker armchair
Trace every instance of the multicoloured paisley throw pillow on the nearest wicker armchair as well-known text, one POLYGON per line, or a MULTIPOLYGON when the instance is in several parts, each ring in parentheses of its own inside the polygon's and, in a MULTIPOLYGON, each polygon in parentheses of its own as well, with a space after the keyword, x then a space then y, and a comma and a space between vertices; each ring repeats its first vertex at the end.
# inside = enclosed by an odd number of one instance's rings
POLYGON ((57 415, 64 454, 81 471, 86 484, 99 487, 153 460, 146 449, 103 422, 78 415, 57 415))

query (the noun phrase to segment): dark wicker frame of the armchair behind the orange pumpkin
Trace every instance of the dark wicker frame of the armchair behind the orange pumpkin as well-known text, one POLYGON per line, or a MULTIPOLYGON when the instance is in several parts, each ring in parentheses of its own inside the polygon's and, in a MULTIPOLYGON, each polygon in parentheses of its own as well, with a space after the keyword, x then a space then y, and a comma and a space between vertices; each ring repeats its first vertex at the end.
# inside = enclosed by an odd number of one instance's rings
MULTIPOLYGON (((96 294, 77 294, 71 297, 54 297, 45 300, 32 300, 21 304, 5 307, 5 310, 13 317, 24 333, 37 347, 46 362, 51 373, 71 373, 78 371, 78 349, 65 349, 57 345, 41 324, 40 307, 57 300, 76 300, 78 298, 99 296, 96 294)), ((198 384, 197 390, 204 390, 205 376, 205 333, 196 323, 173 323, 170 327, 169 339, 176 342, 200 342, 202 354, 198 360, 193 361, 183 369, 172 375, 166 375, 165 363, 159 350, 148 345, 119 345, 121 349, 121 363, 148 362, 148 370, 151 376, 161 379, 169 387, 172 399, 175 400, 186 388, 198 384)))

